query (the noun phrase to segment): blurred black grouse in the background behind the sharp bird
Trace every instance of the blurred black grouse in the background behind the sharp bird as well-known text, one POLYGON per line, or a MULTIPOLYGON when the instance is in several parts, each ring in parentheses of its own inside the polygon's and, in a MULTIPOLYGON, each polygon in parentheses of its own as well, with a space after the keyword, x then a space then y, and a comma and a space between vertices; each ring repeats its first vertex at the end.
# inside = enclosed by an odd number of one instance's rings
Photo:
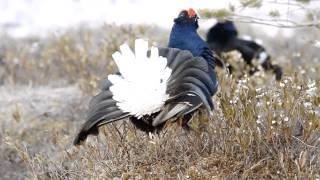
MULTIPOLYGON (((223 52, 239 51, 246 64, 252 67, 250 74, 257 72, 258 66, 261 65, 265 71, 272 70, 276 79, 281 80, 281 67, 272 64, 271 57, 264 47, 255 41, 238 38, 238 31, 232 21, 218 22, 211 27, 207 33, 207 43, 219 56, 223 52)), ((228 68, 232 73, 234 67, 228 66, 228 68)))

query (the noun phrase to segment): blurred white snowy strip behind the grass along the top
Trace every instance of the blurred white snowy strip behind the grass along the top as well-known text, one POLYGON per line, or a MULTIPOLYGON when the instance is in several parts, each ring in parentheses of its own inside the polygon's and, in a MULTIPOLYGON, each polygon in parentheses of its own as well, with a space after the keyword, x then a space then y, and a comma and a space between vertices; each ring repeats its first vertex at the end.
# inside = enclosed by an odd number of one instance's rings
MULTIPOLYGON (((276 15, 278 20, 301 22, 312 13, 319 13, 320 2, 294 1, 294 0, 264 0, 258 1, 238 0, 1 0, 0 1, 0 27, 14 37, 28 35, 44 36, 48 32, 61 31, 77 25, 99 26, 104 23, 120 24, 153 24, 163 28, 172 26, 172 19, 181 9, 229 9, 239 17, 256 17, 270 19, 276 15), (244 8, 244 4, 247 7, 244 8)), ((319 14, 317 14, 319 15, 319 14)), ((214 21, 202 22, 201 28, 208 28, 214 21)), ((276 22, 274 22, 276 23, 276 22)), ((263 26, 259 28, 268 35, 275 35, 281 29, 263 26)), ((292 33, 284 35, 289 36, 292 33)))

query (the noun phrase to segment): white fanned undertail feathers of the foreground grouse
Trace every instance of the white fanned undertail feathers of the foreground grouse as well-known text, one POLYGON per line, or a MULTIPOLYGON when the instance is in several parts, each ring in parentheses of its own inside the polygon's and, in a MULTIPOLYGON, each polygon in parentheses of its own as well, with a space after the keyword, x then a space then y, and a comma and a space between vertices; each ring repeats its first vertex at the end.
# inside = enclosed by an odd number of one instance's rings
POLYGON ((127 44, 120 50, 112 57, 121 75, 108 76, 117 106, 138 118, 159 111, 169 97, 166 90, 172 70, 167 59, 159 56, 156 47, 151 47, 148 57, 148 42, 142 39, 135 41, 135 53, 127 44))

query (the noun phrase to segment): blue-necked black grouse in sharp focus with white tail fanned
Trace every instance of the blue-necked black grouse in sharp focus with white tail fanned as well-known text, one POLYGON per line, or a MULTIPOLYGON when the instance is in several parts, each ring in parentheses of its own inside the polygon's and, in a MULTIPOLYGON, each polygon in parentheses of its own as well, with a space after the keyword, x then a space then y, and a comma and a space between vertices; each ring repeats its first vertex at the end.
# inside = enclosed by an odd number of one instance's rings
POLYGON ((169 47, 151 47, 135 41, 134 52, 124 44, 113 54, 119 74, 108 75, 101 92, 89 104, 87 121, 77 134, 78 145, 102 125, 129 118, 146 132, 160 130, 169 119, 213 110, 217 91, 214 58, 197 34, 197 15, 183 10, 174 20, 169 47))

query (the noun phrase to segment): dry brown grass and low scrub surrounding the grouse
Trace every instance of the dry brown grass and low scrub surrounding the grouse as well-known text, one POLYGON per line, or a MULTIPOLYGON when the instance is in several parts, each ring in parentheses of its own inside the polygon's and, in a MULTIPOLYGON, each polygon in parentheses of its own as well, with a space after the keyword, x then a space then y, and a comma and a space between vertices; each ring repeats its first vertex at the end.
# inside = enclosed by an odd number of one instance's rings
POLYGON ((168 32, 104 26, 44 40, 5 38, 2 179, 320 178, 320 65, 286 56, 279 58, 281 82, 264 73, 237 80, 218 70, 214 116, 197 114, 195 131, 169 124, 148 135, 123 121, 72 146, 99 79, 114 70, 112 52, 136 37, 165 45, 168 32))

